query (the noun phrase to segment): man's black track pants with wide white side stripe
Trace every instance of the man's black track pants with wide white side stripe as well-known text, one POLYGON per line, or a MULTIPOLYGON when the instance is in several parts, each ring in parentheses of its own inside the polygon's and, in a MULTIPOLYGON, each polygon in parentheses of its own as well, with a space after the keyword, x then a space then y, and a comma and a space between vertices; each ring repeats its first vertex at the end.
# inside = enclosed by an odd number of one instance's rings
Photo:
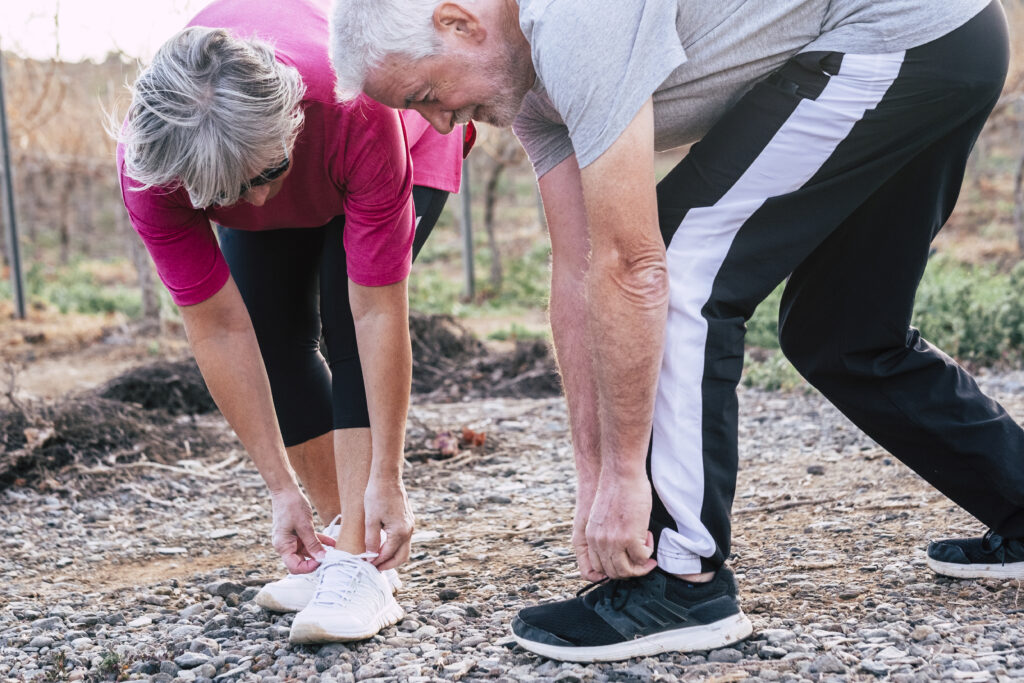
POLYGON ((1024 431, 910 327, 1007 61, 998 2, 905 52, 799 54, 658 184, 671 302, 648 471, 663 568, 729 555, 744 324, 786 276, 780 342, 804 377, 979 520, 1024 537, 1024 431))

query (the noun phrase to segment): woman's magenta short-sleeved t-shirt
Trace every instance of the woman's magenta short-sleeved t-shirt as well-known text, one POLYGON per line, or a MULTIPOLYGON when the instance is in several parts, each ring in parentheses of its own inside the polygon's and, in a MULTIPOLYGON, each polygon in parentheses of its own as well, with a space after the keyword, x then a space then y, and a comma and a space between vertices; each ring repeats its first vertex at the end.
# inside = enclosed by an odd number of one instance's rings
POLYGON ((184 188, 138 186, 125 174, 122 197, 157 272, 181 306, 200 303, 227 282, 228 268, 211 226, 265 230, 318 227, 345 216, 348 276, 367 287, 399 282, 412 265, 412 185, 458 191, 462 136, 439 135, 411 112, 402 116, 368 97, 341 104, 328 59, 330 0, 218 0, 189 26, 258 36, 295 67, 306 85, 305 122, 281 190, 262 207, 238 202, 196 209, 184 188), (404 119, 404 125, 403 120, 404 119))

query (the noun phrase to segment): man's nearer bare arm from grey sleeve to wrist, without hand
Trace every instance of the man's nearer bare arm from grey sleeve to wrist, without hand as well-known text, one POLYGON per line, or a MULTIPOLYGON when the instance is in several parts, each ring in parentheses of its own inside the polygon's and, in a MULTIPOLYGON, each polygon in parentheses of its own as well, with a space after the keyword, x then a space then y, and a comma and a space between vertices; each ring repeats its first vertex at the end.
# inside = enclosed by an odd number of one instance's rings
POLYGON ((653 105, 581 173, 593 246, 588 332, 598 386, 602 479, 645 478, 665 345, 669 275, 654 193, 653 105))

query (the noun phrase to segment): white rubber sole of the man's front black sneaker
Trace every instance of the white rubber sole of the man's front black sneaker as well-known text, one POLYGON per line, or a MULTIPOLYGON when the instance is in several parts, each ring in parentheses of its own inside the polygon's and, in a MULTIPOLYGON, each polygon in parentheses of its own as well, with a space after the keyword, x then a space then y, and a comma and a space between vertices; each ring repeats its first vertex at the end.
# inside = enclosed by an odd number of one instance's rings
MULTIPOLYGON (((513 629, 529 629, 518 616, 513 622, 513 629)), ((593 647, 572 647, 549 645, 520 637, 513 631, 512 637, 519 645, 530 652, 557 659, 559 661, 620 661, 632 657, 650 656, 662 652, 697 652, 714 650, 726 645, 732 645, 754 633, 751 621, 742 612, 726 618, 691 626, 672 631, 663 631, 642 638, 628 640, 610 645, 593 647)))

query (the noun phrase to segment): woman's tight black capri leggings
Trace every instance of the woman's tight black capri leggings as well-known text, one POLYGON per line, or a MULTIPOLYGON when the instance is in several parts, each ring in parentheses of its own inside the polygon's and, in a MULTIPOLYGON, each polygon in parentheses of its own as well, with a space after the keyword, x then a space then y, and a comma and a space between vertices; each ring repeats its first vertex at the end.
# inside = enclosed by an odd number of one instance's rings
MULTIPOLYGON (((414 259, 447 196, 413 187, 414 259)), ((370 426, 348 302, 344 228, 344 216, 311 228, 217 226, 220 249, 256 330, 286 446, 332 429, 370 426), (329 362, 321 353, 322 336, 329 362)))

